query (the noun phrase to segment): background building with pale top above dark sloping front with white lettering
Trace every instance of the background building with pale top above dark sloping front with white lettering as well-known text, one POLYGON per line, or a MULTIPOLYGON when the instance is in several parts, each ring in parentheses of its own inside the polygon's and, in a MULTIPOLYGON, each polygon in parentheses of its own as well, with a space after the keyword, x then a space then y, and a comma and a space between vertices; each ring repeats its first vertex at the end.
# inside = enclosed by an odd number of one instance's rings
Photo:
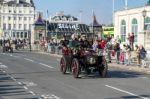
POLYGON ((48 24, 48 38, 62 39, 65 35, 70 39, 72 34, 89 35, 89 26, 81 23, 76 17, 65 15, 63 12, 50 17, 48 24))

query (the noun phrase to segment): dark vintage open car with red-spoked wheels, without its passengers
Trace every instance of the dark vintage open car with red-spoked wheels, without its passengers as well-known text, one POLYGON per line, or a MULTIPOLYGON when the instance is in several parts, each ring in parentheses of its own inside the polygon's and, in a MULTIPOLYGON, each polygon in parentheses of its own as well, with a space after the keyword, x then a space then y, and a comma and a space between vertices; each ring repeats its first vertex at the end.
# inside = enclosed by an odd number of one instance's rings
POLYGON ((60 60, 60 71, 65 74, 71 72, 75 78, 78 78, 81 73, 99 72, 102 77, 107 75, 107 62, 104 56, 99 56, 91 49, 70 49, 64 47, 62 50, 63 56, 60 60))

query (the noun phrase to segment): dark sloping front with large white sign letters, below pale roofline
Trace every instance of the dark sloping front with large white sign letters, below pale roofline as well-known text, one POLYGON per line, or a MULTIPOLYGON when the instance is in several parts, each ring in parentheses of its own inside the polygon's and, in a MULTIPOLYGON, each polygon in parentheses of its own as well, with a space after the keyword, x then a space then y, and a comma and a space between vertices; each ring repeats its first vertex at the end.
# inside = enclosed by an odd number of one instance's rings
POLYGON ((90 36, 89 27, 85 24, 78 23, 50 23, 48 26, 48 36, 53 39, 60 40, 63 36, 68 39, 72 34, 90 36))

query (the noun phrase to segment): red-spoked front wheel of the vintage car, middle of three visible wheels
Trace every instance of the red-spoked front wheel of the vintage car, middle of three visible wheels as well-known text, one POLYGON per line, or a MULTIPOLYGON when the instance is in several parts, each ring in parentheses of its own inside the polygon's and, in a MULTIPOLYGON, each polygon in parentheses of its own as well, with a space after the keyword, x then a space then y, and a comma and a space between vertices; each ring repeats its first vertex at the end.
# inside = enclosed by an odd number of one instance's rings
POLYGON ((77 59, 73 59, 72 61, 72 74, 75 78, 78 78, 80 73, 80 65, 77 59))

